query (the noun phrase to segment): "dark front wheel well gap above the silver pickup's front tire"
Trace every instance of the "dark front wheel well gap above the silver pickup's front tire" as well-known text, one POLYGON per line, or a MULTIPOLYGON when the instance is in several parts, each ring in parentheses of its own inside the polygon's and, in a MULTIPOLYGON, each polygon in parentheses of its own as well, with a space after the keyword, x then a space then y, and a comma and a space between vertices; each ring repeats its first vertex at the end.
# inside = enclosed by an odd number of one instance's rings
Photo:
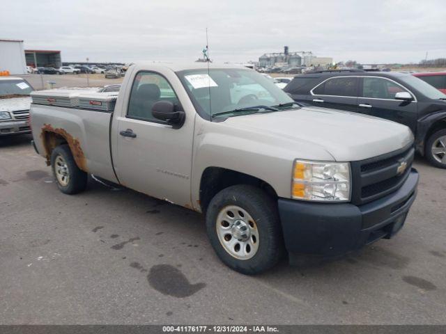
POLYGON ((258 177, 240 173, 236 170, 208 167, 203 171, 200 181, 200 206, 201 212, 206 213, 210 200, 221 190, 236 184, 250 184, 262 189, 272 198, 277 198, 277 193, 268 182, 258 177))

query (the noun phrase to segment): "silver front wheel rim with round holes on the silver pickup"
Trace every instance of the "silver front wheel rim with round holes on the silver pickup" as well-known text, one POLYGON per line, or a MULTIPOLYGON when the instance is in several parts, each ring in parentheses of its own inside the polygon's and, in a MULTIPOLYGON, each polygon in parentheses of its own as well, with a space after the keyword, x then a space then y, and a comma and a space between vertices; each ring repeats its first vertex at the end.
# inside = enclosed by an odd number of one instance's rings
POLYGON ((259 229, 243 207, 228 205, 215 222, 217 237, 226 253, 238 260, 249 260, 259 250, 259 229))

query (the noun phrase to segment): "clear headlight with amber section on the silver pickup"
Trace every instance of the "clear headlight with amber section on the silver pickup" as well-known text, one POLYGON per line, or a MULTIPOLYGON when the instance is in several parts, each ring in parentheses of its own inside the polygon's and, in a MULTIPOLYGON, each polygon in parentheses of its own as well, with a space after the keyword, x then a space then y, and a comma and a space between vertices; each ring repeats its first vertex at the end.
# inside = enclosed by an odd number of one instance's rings
POLYGON ((291 198, 348 202, 351 176, 348 162, 321 162, 295 160, 291 198))

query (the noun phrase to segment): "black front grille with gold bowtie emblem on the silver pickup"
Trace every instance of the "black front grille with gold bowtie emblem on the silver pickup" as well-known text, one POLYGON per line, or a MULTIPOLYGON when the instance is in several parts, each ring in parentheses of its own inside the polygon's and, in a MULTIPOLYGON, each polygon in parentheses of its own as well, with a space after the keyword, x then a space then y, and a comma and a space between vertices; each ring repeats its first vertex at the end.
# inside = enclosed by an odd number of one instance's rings
POLYGON ((410 173, 414 155, 410 145, 380 157, 352 162, 352 202, 362 205, 397 191, 410 173), (402 163, 406 163, 403 171, 402 163))

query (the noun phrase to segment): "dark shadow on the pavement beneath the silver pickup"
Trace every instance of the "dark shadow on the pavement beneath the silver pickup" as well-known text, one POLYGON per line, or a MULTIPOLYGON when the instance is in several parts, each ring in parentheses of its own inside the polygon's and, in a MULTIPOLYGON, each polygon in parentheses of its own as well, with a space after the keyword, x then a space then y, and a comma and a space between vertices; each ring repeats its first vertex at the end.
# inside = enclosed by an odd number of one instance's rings
MULTIPOLYGON (((102 180, 100 181, 101 182, 97 182, 93 179, 89 180, 88 191, 101 193, 100 196, 103 200, 108 197, 107 201, 113 203, 115 200, 119 201, 120 198, 125 198, 128 202, 145 203, 145 223, 153 224, 153 222, 151 222, 151 217, 153 216, 156 216, 157 219, 162 221, 161 232, 155 232, 156 237, 162 237, 162 234, 165 235, 166 232, 177 231, 178 234, 182 234, 182 236, 185 237, 185 240, 189 240, 187 242, 184 241, 183 243, 178 240, 179 242, 172 244, 170 247, 172 252, 181 251, 185 254, 190 253, 190 257, 199 257, 199 263, 202 264, 204 268, 213 267, 218 268, 219 271, 230 270, 220 262, 208 243, 204 217, 201 214, 178 205, 173 205, 164 200, 146 196, 116 184, 102 182, 102 180), (107 196, 105 192, 110 194, 113 193, 113 195, 107 196), (187 224, 187 232, 185 232, 185 224, 187 224), (199 240, 199 242, 197 240, 199 240), (199 245, 194 247, 194 244, 199 245), (199 247, 199 252, 195 251, 197 250, 196 247, 199 247)), ((141 204, 139 206, 141 206, 141 204)), ((138 206, 134 209, 136 212, 141 211, 141 207, 138 206)), ((132 223, 132 221, 126 223, 132 223)), ((134 223, 138 223, 138 218, 135 218, 134 223)), ((153 238, 153 235, 139 234, 139 237, 141 237, 142 241, 144 239, 147 240, 153 238)), ((299 278, 308 275, 312 277, 320 276, 320 278, 325 277, 325 279, 327 278, 327 275, 329 275, 333 279, 342 279, 348 277, 350 273, 357 273, 358 271, 367 271, 370 273, 373 271, 371 269, 378 269, 376 275, 379 276, 382 275, 380 271, 395 272, 406 269, 410 263, 410 258, 390 250, 392 248, 388 249, 387 246, 389 245, 382 244, 383 242, 384 241, 378 241, 376 244, 336 259, 302 258, 302 262, 293 267, 291 267, 286 258, 284 258, 275 269, 258 276, 253 276, 253 278, 263 280, 265 283, 275 282, 275 285, 277 285, 278 277, 280 277, 279 280, 282 282, 292 281, 297 283, 299 278)), ((189 255, 187 256, 189 257, 189 255)), ((238 273, 234 274, 240 275, 238 273)), ((249 279, 249 276, 245 276, 245 278, 249 279)), ((346 282, 348 282, 348 280, 346 280, 346 282)))

